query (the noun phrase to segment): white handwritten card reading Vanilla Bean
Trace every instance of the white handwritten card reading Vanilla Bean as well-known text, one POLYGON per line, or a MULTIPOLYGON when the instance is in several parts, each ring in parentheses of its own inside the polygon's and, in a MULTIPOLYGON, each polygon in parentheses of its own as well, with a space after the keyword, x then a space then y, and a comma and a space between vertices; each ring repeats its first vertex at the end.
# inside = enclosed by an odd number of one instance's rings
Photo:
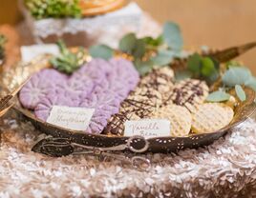
POLYGON ((142 119, 126 121, 124 135, 141 135, 145 138, 169 136, 171 131, 170 121, 165 119, 142 119))

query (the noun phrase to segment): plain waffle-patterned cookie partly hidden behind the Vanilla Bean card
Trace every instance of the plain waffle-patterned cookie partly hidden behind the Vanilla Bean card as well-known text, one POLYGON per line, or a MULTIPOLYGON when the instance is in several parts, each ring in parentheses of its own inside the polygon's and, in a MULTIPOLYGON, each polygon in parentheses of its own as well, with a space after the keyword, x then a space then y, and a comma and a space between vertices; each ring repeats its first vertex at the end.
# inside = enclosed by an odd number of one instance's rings
POLYGON ((188 109, 181 106, 163 106, 153 112, 152 117, 168 119, 171 123, 171 136, 173 137, 187 136, 191 129, 191 113, 188 109))

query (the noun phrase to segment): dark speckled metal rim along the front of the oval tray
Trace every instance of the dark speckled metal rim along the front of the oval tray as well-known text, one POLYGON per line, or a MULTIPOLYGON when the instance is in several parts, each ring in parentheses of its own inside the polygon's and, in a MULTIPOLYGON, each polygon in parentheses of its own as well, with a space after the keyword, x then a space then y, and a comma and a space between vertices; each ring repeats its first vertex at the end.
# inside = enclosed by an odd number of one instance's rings
MULTIPOLYGON (((224 127, 224 129, 220 129, 211 133, 190 134, 187 137, 167 136, 149 138, 146 140, 142 137, 135 137, 132 139, 132 142, 130 142, 132 147, 128 147, 127 149, 130 149, 134 152, 170 152, 178 151, 182 148, 198 148, 207 146, 220 137, 224 136, 227 131, 244 122, 245 119, 253 114, 256 109, 256 104, 254 102, 255 91, 245 88, 245 93, 247 96, 245 102, 240 103, 234 109, 234 118, 228 126, 224 127)), ((24 115, 27 120, 31 121, 36 129, 39 129, 46 134, 52 135, 53 137, 62 138, 62 141, 66 140, 67 142, 86 146, 88 148, 113 148, 113 150, 115 150, 117 146, 127 145, 127 142, 131 139, 130 137, 126 136, 114 137, 103 134, 91 134, 59 128, 37 119, 33 115, 32 111, 23 109, 17 99, 16 101, 16 105, 13 106, 13 109, 16 109, 19 113, 24 115)), ((44 151, 40 150, 40 152, 44 151)))

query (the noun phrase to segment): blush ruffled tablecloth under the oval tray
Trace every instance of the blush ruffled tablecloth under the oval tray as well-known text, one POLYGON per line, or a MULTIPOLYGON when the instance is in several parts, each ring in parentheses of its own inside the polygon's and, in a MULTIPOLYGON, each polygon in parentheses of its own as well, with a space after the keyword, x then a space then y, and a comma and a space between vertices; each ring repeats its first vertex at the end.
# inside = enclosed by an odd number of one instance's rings
POLYGON ((15 114, 1 120, 0 197, 256 197, 256 122, 213 145, 148 154, 147 171, 111 158, 51 158, 31 151, 40 134, 15 114))

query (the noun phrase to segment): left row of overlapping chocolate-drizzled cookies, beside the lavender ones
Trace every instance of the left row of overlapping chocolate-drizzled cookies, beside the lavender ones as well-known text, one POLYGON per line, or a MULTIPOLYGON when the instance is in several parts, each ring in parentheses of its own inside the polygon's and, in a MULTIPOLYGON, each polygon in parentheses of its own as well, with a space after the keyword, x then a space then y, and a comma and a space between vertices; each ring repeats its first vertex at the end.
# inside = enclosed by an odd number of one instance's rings
POLYGON ((139 87, 121 103, 119 112, 110 118, 104 132, 122 135, 125 121, 148 117, 167 99, 173 89, 173 77, 173 70, 167 67, 155 69, 143 77, 139 87))

